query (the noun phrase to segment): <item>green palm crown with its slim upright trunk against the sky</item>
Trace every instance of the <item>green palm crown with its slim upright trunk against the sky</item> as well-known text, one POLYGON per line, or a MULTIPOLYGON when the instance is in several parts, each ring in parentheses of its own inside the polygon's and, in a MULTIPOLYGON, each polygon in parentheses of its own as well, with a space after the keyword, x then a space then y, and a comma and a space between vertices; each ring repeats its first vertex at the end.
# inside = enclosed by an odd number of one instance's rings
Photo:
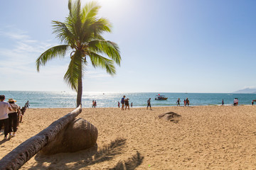
POLYGON ((64 43, 50 47, 36 60, 37 71, 53 58, 63 58, 70 52, 70 64, 64 80, 78 93, 77 106, 82 102, 82 77, 88 59, 93 67, 116 73, 114 63, 120 65, 121 56, 116 43, 105 40, 102 33, 111 32, 111 24, 106 18, 97 18, 100 6, 90 2, 81 8, 80 0, 68 1, 69 15, 65 22, 53 21, 53 33, 64 43), (107 56, 107 57, 104 57, 107 56))

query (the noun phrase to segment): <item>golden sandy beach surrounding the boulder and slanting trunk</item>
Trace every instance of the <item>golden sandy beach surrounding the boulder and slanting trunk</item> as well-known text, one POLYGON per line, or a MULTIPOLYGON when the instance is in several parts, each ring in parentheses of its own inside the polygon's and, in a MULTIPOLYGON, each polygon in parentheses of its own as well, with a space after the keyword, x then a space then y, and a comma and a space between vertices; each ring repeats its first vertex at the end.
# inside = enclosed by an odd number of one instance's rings
MULTIPOLYGON (((21 169, 255 169, 256 106, 152 109, 83 108, 78 118, 97 127, 97 148, 36 154, 21 169), (158 118, 169 111, 181 117, 158 118)), ((16 137, 0 135, 0 159, 70 111, 29 108, 16 137)))

